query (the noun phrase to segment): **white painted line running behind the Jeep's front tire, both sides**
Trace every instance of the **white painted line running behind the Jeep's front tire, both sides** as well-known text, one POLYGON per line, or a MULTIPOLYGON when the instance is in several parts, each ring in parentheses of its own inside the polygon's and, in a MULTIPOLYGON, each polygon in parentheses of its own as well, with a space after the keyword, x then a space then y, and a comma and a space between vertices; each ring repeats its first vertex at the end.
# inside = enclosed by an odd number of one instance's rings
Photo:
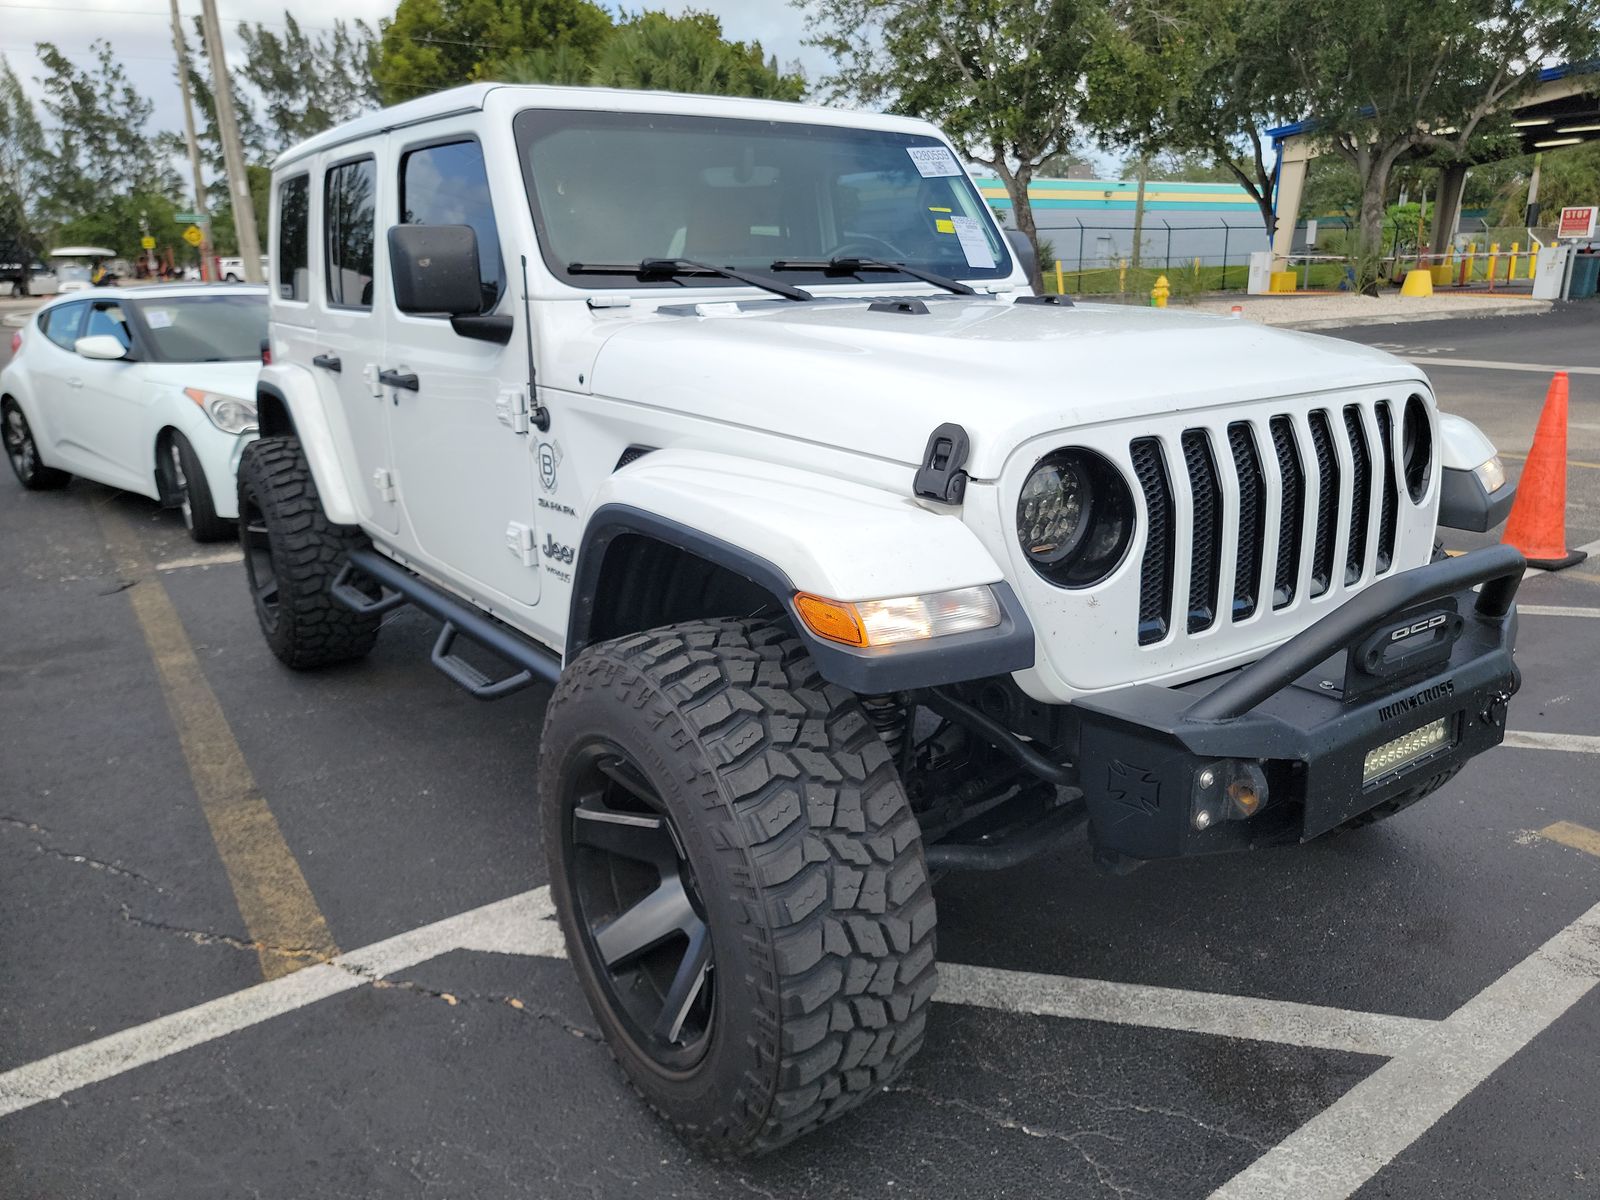
MULTIPOLYGON (((360 950, 0 1075, 0 1117, 326 1000, 450 950, 565 957, 549 888, 424 925, 360 950)), ((1437 1022, 1176 987, 939 965, 942 1003, 1392 1056, 1437 1022)))

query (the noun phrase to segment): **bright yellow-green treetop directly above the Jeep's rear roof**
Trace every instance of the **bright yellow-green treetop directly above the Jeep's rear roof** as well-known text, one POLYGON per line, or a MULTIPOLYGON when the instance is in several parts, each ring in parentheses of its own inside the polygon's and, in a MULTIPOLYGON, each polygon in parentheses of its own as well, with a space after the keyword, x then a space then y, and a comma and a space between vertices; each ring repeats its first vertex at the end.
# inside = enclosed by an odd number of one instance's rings
POLYGON ((378 22, 373 80, 384 104, 491 78, 518 54, 554 51, 592 62, 611 14, 589 0, 400 0, 378 22))

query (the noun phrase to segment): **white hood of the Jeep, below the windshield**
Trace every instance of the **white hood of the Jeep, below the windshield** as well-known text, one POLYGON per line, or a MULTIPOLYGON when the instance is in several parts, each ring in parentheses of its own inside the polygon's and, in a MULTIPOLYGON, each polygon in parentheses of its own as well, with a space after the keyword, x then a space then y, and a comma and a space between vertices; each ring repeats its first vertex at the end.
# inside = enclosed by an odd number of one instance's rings
POLYGON ((1040 434, 1267 397, 1421 379, 1381 350, 1248 320, 1112 304, 928 296, 701 304, 606 339, 594 390, 914 466, 946 421, 994 478, 1040 434))

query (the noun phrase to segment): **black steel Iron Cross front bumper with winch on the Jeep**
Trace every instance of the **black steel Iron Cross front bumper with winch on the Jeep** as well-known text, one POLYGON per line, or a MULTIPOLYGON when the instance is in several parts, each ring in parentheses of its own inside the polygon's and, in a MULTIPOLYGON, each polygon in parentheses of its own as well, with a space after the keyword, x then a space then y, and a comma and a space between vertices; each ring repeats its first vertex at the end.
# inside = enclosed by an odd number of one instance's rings
POLYGON ((1522 682, 1512 645, 1523 566, 1509 546, 1430 563, 1373 584, 1240 670, 1075 702, 1096 848, 1154 859, 1306 840, 1440 786, 1504 738, 1522 682), (1438 720, 1427 752, 1389 771, 1368 762, 1438 720), (1259 768, 1266 803, 1248 818, 1222 805, 1221 819, 1202 776, 1242 765, 1259 768))

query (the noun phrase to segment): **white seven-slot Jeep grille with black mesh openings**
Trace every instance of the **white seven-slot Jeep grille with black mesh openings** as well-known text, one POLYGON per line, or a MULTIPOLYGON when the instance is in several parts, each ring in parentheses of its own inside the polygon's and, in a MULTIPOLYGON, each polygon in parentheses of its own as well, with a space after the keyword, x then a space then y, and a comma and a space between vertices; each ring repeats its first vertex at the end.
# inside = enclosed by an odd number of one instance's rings
POLYGON ((1344 587, 1362 584, 1374 509, 1373 576, 1389 571, 1400 509, 1394 442, 1394 406, 1382 400, 1330 405, 1299 418, 1278 414, 1186 429, 1176 446, 1154 437, 1136 438, 1128 450, 1149 512, 1139 578, 1139 645, 1155 645, 1173 629, 1179 555, 1189 563, 1182 629, 1190 634, 1219 621, 1251 618, 1269 598, 1272 608, 1288 606, 1301 586, 1302 566, 1310 579, 1309 594, 1325 594, 1334 582, 1341 533, 1346 552, 1338 579, 1344 587), (1230 474, 1219 470, 1219 456, 1232 464, 1230 474), (1181 506, 1174 504, 1174 470, 1187 483, 1187 520, 1179 518, 1181 506), (1315 494, 1307 494, 1310 490, 1315 494), (1234 546, 1224 546, 1229 512, 1235 517, 1234 546), (1269 512, 1278 515, 1278 542, 1270 558, 1269 512), (1224 562, 1234 566, 1234 590, 1226 598, 1219 595, 1224 562))

